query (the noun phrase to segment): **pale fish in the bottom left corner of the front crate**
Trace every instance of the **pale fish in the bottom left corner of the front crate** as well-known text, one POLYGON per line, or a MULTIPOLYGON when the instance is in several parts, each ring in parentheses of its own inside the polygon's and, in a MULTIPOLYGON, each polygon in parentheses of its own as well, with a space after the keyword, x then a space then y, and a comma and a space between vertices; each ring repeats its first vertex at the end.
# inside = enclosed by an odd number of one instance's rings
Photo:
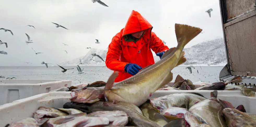
POLYGON ((8 127, 39 127, 36 124, 36 119, 28 117, 11 123, 8 127))

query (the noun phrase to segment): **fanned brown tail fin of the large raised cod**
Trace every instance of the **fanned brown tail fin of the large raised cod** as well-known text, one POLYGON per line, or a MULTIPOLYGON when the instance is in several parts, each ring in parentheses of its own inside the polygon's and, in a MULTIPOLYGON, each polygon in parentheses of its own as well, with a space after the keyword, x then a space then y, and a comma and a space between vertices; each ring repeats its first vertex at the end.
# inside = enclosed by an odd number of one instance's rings
POLYGON ((188 44, 189 41, 191 41, 193 38, 195 38, 201 31, 202 29, 197 27, 175 23, 175 34, 178 46, 184 48, 184 46, 188 44))

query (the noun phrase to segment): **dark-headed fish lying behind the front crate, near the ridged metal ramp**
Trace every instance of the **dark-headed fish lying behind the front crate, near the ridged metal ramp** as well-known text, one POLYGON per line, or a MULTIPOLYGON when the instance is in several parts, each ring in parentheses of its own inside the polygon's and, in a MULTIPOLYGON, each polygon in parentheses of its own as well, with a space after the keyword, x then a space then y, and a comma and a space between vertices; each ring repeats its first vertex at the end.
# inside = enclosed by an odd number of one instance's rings
POLYGON ((224 82, 214 82, 211 85, 196 88, 194 90, 224 90, 226 87, 224 82))

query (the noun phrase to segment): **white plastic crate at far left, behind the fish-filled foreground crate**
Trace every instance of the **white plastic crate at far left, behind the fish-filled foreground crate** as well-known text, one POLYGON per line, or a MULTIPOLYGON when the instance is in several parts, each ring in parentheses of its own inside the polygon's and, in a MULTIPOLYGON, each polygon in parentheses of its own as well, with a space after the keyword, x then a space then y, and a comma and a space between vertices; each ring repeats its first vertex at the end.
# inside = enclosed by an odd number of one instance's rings
POLYGON ((69 87, 72 80, 2 79, 0 80, 0 105, 27 98, 61 87, 69 87))

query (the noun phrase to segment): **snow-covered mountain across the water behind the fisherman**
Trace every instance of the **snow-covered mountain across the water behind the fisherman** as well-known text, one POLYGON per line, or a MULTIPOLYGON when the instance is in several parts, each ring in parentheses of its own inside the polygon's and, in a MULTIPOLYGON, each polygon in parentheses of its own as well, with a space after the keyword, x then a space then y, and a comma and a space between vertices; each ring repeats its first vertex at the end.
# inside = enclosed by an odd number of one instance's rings
MULTIPOLYGON (((226 62, 226 52, 224 45, 224 38, 207 40, 202 43, 196 44, 190 48, 185 48, 185 58, 187 61, 183 65, 195 65, 195 64, 220 64, 226 62)), ((100 58, 92 58, 91 54, 100 55, 104 61, 106 60, 107 50, 91 49, 85 56, 79 57, 84 63, 83 65, 89 66, 104 66, 106 65, 100 58), (94 59, 90 60, 90 59, 94 59)), ((63 66, 76 66, 79 64, 79 58, 75 58, 70 61, 62 62, 60 65, 63 66)), ((154 56, 155 62, 159 61, 159 56, 154 56)))

